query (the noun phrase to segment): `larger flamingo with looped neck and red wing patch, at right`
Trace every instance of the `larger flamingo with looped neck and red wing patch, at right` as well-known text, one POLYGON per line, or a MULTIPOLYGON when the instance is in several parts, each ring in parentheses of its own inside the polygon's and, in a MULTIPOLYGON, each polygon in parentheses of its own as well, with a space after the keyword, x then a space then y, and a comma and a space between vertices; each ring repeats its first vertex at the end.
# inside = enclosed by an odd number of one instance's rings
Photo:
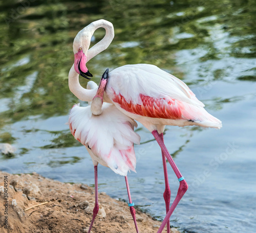
POLYGON ((102 102, 113 103, 118 110, 139 121, 152 133, 162 150, 165 180, 163 196, 166 216, 157 233, 161 233, 166 224, 169 233, 169 218, 187 191, 188 185, 164 144, 164 127, 165 125, 181 127, 199 125, 219 129, 222 123, 204 109, 204 104, 184 82, 155 65, 124 65, 112 70, 109 73, 108 85, 106 83, 101 85, 99 90, 82 88, 77 74, 91 79, 92 74, 86 66, 87 62, 105 50, 113 38, 113 24, 103 19, 90 23, 78 32, 73 43, 75 61, 69 72, 69 88, 78 98, 82 97, 85 101, 92 101, 97 91, 101 93, 105 91, 106 95, 96 96, 95 101, 92 102, 91 111, 94 114, 101 113, 102 102), (98 28, 105 29, 105 36, 89 49, 91 37, 98 28), (179 181, 177 196, 171 206, 165 158, 179 181))

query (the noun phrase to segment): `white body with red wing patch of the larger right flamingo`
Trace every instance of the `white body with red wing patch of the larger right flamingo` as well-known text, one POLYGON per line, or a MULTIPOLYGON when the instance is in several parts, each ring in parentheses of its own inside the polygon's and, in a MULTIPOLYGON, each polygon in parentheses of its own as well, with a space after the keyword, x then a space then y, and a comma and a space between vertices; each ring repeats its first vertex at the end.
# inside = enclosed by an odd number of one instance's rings
POLYGON ((120 111, 151 132, 157 130, 157 125, 222 126, 184 82, 154 65, 114 69, 105 91, 120 111))

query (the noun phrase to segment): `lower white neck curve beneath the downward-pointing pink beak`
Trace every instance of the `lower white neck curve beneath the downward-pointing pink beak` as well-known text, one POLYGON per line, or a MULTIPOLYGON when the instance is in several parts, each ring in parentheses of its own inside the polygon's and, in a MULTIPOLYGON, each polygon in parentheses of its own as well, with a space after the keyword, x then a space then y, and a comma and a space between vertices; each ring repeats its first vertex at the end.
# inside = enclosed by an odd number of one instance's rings
POLYGON ((98 90, 98 88, 88 90, 80 85, 79 74, 75 71, 74 64, 69 71, 69 89, 82 101, 92 101, 98 90))

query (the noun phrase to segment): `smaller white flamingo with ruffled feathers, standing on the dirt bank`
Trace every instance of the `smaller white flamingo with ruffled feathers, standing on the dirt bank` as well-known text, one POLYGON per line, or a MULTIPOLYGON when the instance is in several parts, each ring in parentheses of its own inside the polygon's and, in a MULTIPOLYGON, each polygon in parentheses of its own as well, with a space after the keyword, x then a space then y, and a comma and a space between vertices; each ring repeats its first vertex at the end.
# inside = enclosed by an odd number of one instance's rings
MULTIPOLYGON (((106 81, 107 77, 108 70, 104 72, 102 80, 106 81)), ((97 84, 90 81, 87 89, 97 89, 97 84)), ((69 127, 75 139, 86 147, 94 165, 95 206, 88 233, 92 229, 99 210, 98 164, 109 167, 115 173, 124 176, 130 211, 138 233, 134 203, 132 202, 127 179, 128 171, 136 172, 134 143, 140 143, 140 136, 134 132, 134 127, 137 127, 137 123, 120 112, 111 103, 104 103, 102 105, 102 113, 99 116, 95 116, 91 112, 89 103, 87 107, 80 107, 79 104, 73 106, 69 115, 69 127)))

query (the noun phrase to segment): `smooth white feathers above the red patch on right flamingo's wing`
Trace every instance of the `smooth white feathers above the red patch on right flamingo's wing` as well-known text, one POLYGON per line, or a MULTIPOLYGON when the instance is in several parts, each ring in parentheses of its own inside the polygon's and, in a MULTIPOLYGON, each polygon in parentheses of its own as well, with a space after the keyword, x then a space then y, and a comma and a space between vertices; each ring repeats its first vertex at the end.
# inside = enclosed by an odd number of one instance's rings
POLYGON ((154 98, 171 97, 204 107, 184 82, 155 65, 124 65, 111 71, 109 76, 106 92, 113 89, 135 104, 141 105, 140 94, 143 94, 154 98))

